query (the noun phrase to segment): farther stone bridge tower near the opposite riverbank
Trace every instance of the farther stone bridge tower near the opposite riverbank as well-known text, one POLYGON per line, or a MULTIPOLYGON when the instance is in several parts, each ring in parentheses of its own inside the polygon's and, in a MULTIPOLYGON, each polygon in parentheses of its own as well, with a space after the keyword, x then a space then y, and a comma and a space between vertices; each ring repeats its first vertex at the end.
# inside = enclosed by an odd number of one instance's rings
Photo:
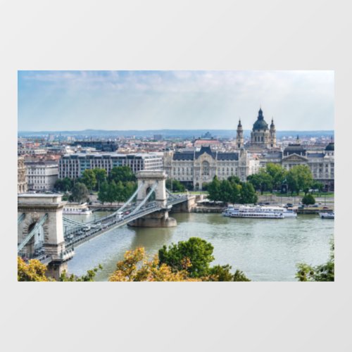
MULTIPOLYGON (((153 191, 155 198, 150 197, 161 210, 158 210, 142 218, 129 222, 129 226, 134 227, 172 227, 177 225, 174 218, 169 217, 169 208, 167 206, 167 196, 165 180, 168 178, 163 170, 144 170, 137 173, 138 188, 137 204, 142 203, 149 192, 153 191)), ((171 207, 170 207, 171 208, 171 207)))

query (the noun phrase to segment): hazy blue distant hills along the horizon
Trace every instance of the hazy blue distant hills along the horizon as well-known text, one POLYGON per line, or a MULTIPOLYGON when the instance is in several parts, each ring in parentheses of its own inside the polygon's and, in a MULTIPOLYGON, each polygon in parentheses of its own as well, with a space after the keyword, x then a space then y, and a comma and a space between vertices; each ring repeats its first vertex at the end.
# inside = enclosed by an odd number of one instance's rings
MULTIPOLYGON (((234 138, 236 130, 83 130, 83 131, 19 131, 18 137, 41 137, 48 134, 72 137, 153 137, 154 134, 161 134, 164 138, 199 138, 203 134, 209 132, 214 138, 234 138)), ((251 130, 244 130, 244 137, 249 137, 251 130)), ((292 137, 331 137, 334 136, 334 131, 277 131, 276 136, 292 137)))

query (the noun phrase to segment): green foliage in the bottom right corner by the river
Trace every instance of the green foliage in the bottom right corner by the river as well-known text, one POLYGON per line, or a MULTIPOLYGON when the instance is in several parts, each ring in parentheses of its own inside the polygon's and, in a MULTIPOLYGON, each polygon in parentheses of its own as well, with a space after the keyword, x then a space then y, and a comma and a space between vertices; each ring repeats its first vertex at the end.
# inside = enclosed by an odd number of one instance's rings
POLYGON ((299 263, 297 268, 296 278, 298 281, 334 281, 334 241, 330 246, 330 258, 327 263, 317 266, 299 263))

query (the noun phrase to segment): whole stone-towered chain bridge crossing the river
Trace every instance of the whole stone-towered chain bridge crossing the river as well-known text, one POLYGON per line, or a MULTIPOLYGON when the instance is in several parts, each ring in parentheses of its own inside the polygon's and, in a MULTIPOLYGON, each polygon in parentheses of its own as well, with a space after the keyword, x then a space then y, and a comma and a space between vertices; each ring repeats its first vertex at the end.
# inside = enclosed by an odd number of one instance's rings
POLYGON ((140 171, 137 189, 123 206, 92 222, 63 217, 61 194, 18 194, 18 256, 37 258, 48 265, 48 274, 58 277, 67 270, 75 247, 123 225, 170 227, 174 206, 189 210, 196 196, 175 195, 165 187, 163 171, 140 171))

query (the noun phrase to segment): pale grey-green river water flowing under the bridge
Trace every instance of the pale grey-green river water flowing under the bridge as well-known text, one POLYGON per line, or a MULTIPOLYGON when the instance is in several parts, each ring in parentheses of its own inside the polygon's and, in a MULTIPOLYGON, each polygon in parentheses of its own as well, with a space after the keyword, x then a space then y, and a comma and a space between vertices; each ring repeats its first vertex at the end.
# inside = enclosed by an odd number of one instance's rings
MULTIPOLYGON (((91 221, 106 215, 71 215, 91 221)), ((296 263, 318 265, 329 258, 329 241, 334 220, 318 215, 298 215, 294 219, 235 219, 217 213, 175 213, 177 227, 120 227, 80 245, 68 262, 68 271, 83 275, 99 263, 96 281, 107 281, 125 251, 143 246, 153 255, 164 244, 201 237, 214 246, 212 264, 230 264, 252 281, 296 281, 296 263)))

